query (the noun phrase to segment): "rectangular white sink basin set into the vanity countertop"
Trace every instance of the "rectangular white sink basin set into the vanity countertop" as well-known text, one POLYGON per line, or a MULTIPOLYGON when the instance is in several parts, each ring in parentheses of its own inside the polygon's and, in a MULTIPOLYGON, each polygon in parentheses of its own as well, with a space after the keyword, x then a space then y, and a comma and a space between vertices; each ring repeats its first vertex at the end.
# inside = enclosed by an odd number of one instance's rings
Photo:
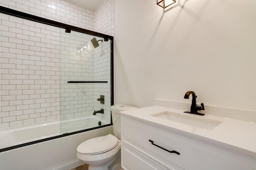
POLYGON ((169 121, 190 125, 192 127, 203 128, 206 130, 212 130, 222 123, 222 121, 216 121, 212 119, 203 118, 197 115, 187 115, 186 113, 175 113, 175 112, 161 112, 150 115, 169 121))

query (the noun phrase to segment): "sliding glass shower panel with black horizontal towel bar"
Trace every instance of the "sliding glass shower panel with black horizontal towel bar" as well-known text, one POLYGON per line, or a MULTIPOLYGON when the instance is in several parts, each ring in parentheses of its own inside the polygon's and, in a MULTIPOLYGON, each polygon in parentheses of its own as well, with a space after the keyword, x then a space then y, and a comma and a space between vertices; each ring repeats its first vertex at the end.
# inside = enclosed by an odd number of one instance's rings
POLYGON ((61 33, 61 134, 111 123, 110 40, 61 33))

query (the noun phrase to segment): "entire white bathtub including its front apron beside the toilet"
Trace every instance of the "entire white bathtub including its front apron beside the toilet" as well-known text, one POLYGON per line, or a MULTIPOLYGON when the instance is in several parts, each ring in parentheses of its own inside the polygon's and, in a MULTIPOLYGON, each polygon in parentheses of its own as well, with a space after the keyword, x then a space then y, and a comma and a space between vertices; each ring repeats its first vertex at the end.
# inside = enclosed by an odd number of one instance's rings
POLYGON ((110 123, 100 117, 88 116, 65 120, 61 125, 59 121, 52 121, 1 129, 0 150, 14 145, 22 146, 16 148, 14 146, 11 150, 0 152, 1 170, 70 170, 80 166, 83 162, 76 158, 76 147, 90 138, 113 134, 112 126, 106 124, 110 123), (99 127, 99 121, 103 127, 90 130, 99 127), (84 125, 87 125, 88 131, 74 132, 75 129, 84 129, 84 125), (63 137, 56 138, 63 133, 63 137), (49 138, 53 139, 48 140, 49 138), (30 144, 32 141, 37 142, 30 144))

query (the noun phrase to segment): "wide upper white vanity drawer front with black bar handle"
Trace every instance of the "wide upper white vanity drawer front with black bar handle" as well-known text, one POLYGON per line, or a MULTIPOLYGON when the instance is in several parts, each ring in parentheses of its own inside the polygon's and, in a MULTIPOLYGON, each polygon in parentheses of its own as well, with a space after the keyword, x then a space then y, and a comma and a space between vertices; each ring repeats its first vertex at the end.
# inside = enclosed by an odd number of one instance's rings
POLYGON ((169 169, 253 170, 255 160, 192 138, 121 116, 122 142, 169 169), (162 147, 159 148, 150 142, 162 147), (170 153, 166 150, 179 152, 170 153))

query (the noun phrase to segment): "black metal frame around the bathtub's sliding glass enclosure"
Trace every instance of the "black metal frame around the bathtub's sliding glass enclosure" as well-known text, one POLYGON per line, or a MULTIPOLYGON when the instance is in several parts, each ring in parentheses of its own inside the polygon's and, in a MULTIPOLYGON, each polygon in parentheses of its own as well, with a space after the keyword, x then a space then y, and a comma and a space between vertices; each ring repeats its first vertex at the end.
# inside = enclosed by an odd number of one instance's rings
MULTIPOLYGON (((34 22, 38 22, 38 23, 41 23, 41 24, 46 24, 46 25, 49 25, 49 26, 55 26, 57 28, 63 28, 63 29, 65 29, 66 33, 70 33, 71 31, 76 31, 76 32, 88 34, 88 35, 91 35, 91 36, 97 36, 97 37, 100 37, 100 38, 105 38, 105 39, 110 40, 110 105, 114 105, 114 37, 113 36, 109 36, 109 35, 106 35, 106 34, 101 34, 101 33, 90 31, 90 30, 86 30, 86 29, 79 28, 79 27, 76 27, 76 26, 70 26, 68 24, 63 24, 61 22, 56 22, 56 21, 53 21, 53 20, 49 20, 49 19, 46 19, 46 18, 39 17, 39 16, 34 16, 34 15, 31 15, 31 14, 27 14, 27 13, 24 13, 24 12, 20 12, 20 11, 17 11, 17 10, 6 8, 6 7, 3 7, 3 6, 0 6, 0 13, 7 14, 7 15, 10 15, 10 16, 15 16, 15 17, 30 20, 30 21, 34 21, 34 22)), ((97 83, 97 82, 98 81, 95 81, 94 83, 97 83)), ((90 82, 90 83, 93 83, 93 82, 90 82)), ((50 137, 50 138, 35 140, 35 141, 27 142, 27 143, 24 143, 24 144, 18 144, 18 145, 10 146, 10 147, 7 147, 7 148, 2 148, 2 149, 0 149, 0 152, 4 152, 4 151, 7 151, 7 150, 12 150, 12 149, 15 149, 15 148, 20 148, 20 147, 23 147, 23 146, 28 146, 28 145, 31 145, 31 144, 36 144, 36 143, 40 143, 40 142, 44 142, 44 141, 48 141, 48 140, 53 140, 53 139, 56 139, 56 138, 61 138, 61 137, 69 136, 69 135, 72 135, 72 134, 86 132, 86 131, 89 131, 89 130, 103 128, 103 127, 107 127, 107 126, 111 126, 111 125, 113 125, 112 116, 111 116, 111 122, 108 125, 103 125, 103 126, 100 126, 100 127, 93 127, 93 128, 89 128, 89 129, 79 130, 79 131, 76 131, 76 132, 60 134, 58 136, 53 136, 53 137, 50 137)))

